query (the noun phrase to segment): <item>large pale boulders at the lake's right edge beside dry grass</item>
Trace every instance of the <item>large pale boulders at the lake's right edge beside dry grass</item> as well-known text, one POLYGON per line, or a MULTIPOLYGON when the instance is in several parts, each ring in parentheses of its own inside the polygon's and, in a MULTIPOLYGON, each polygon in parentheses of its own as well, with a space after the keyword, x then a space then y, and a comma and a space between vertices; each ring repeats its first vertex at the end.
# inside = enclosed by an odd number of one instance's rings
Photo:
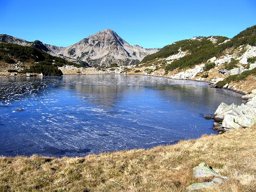
POLYGON ((213 118, 216 120, 213 126, 219 133, 234 130, 237 128, 251 127, 256 123, 256 89, 251 94, 243 95, 246 104, 226 105, 221 103, 214 112, 213 118))

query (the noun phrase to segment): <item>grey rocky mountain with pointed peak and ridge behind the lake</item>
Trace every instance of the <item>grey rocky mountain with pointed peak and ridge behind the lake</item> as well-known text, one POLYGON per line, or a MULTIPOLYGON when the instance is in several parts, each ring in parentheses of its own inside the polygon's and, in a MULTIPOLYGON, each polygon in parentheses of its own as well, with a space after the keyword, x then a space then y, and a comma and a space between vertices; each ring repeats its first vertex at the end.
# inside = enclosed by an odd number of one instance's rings
POLYGON ((97 32, 69 47, 43 44, 39 40, 29 42, 9 35, 0 35, 0 42, 35 47, 53 56, 63 57, 69 61, 84 61, 93 66, 109 66, 113 63, 118 65, 138 64, 145 56, 159 50, 130 45, 110 29, 97 32))

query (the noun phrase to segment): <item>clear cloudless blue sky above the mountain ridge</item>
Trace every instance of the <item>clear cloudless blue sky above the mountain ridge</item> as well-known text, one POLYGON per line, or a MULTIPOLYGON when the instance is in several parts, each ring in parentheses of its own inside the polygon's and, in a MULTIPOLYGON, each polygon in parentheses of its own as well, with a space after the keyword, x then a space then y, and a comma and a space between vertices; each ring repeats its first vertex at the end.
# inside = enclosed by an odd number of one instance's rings
POLYGON ((0 34, 68 46, 105 28, 162 48, 193 36, 233 37, 256 24, 256 1, 0 0, 0 34))

